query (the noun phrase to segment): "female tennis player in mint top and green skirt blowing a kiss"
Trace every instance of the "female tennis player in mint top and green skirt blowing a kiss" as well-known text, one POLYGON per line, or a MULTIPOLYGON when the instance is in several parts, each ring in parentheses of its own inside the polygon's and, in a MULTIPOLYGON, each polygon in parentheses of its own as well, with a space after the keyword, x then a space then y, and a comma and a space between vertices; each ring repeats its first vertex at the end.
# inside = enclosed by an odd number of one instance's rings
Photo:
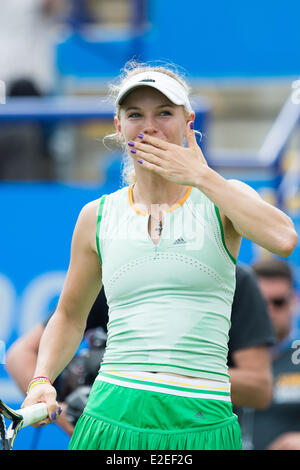
POLYGON ((23 406, 46 402, 103 283, 107 349, 70 449, 241 449, 227 340, 241 237, 288 256, 290 218, 207 165, 185 82, 168 68, 125 70, 115 127, 132 183, 87 204, 57 310, 23 406), (132 175, 131 175, 132 176, 132 175))

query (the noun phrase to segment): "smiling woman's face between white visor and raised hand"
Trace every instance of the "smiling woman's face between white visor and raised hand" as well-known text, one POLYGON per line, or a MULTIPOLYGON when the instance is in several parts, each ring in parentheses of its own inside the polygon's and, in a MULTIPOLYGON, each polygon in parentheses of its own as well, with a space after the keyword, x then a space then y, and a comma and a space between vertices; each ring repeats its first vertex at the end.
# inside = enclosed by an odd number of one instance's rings
POLYGON ((193 113, 187 116, 182 106, 173 104, 160 91, 142 87, 124 100, 115 125, 126 142, 137 140, 142 133, 182 145, 186 124, 191 119, 193 113))

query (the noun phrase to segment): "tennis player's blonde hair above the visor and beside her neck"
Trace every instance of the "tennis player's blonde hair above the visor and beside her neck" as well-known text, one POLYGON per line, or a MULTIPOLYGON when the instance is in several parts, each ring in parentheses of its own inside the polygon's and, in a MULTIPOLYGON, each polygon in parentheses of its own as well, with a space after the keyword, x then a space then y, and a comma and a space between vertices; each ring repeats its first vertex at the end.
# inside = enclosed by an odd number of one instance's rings
MULTIPOLYGON (((126 81, 132 77, 133 75, 136 75, 138 73, 142 72, 161 72, 166 75, 169 75, 170 77, 174 78, 177 80, 186 90, 187 94, 190 94, 190 88, 188 84, 186 83, 185 79, 183 78, 183 73, 179 72, 178 66, 175 66, 174 64, 166 64, 166 65, 151 65, 151 63, 144 63, 144 62, 137 62, 135 60, 130 60, 127 62, 122 69, 122 73, 118 79, 118 82, 112 83, 109 85, 109 96, 111 99, 115 102, 116 98, 119 94, 119 91, 121 87, 126 83, 126 81)), ((120 119, 120 106, 116 107, 115 114, 118 119, 120 119)), ((183 108, 184 113, 187 115, 187 111, 185 108, 183 108)), ((134 171, 134 165, 133 165, 133 160, 129 157, 127 153, 127 146, 126 142, 119 136, 117 132, 114 132, 113 134, 109 134, 104 137, 103 143, 106 148, 106 140, 111 139, 114 142, 117 142, 123 149, 123 160, 122 160, 122 181, 124 185, 130 185, 136 181, 136 176, 135 176, 135 171, 134 171)))

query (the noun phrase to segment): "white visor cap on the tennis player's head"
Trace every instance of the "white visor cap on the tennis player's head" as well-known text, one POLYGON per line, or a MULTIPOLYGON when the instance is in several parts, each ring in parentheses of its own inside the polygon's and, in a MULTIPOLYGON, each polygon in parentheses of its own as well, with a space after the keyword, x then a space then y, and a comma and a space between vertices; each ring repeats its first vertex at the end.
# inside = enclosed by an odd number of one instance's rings
POLYGON ((120 106, 124 99, 136 88, 150 86, 160 91, 172 103, 183 105, 186 111, 191 112, 192 106, 186 89, 175 78, 162 72, 141 72, 129 78, 121 87, 116 99, 116 106, 120 106))

